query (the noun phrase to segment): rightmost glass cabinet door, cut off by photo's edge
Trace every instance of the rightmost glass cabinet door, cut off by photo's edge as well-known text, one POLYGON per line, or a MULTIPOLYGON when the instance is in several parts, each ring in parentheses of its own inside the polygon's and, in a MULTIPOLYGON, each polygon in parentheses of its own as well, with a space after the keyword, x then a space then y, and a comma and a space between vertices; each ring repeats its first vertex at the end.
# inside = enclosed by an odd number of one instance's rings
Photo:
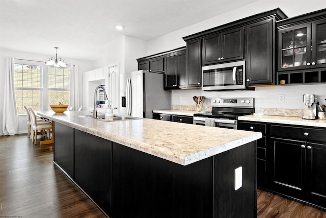
POLYGON ((326 66, 326 19, 312 23, 312 66, 326 66))

